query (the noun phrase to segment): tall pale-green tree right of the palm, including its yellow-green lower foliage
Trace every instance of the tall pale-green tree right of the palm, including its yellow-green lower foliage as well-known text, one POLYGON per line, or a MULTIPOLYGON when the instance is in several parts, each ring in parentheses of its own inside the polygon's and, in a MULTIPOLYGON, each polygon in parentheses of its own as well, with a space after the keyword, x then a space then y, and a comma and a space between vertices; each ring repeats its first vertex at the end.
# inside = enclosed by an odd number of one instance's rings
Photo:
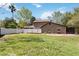
POLYGON ((28 24, 28 21, 32 18, 32 12, 24 7, 16 13, 16 18, 19 20, 18 26, 24 28, 28 24))

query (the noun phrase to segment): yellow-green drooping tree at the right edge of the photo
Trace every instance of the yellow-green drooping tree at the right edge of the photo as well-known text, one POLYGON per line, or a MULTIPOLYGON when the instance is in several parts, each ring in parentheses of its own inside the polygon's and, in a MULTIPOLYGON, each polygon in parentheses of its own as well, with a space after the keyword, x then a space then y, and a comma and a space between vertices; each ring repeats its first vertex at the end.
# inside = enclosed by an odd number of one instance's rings
POLYGON ((73 17, 71 17, 68 25, 73 27, 79 27, 79 8, 74 8, 73 17))

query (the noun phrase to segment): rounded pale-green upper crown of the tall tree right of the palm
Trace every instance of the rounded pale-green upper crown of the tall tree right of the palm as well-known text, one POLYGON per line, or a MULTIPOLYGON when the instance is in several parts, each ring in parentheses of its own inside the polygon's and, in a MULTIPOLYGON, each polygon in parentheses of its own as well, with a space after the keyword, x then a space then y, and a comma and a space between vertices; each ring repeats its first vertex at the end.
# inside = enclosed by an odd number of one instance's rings
POLYGON ((17 11, 16 18, 17 19, 22 19, 22 20, 28 20, 31 19, 32 17, 32 12, 24 7, 22 7, 20 10, 17 11))

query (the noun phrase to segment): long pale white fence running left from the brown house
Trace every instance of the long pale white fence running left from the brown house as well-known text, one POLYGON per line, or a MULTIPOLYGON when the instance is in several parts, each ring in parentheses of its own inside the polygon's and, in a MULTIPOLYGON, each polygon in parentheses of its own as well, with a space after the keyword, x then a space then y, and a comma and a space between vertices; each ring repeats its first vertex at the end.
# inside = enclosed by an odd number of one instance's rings
POLYGON ((6 29, 1 28, 0 34, 16 34, 16 33, 41 33, 41 29, 6 29))

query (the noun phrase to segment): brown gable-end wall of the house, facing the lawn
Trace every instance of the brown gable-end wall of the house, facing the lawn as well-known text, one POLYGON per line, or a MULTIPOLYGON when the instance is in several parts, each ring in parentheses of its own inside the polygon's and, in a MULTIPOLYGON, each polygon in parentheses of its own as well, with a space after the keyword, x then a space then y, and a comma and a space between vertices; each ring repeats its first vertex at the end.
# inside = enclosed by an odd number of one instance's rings
POLYGON ((43 33, 66 34, 66 27, 56 24, 47 24, 43 26, 41 29, 43 33))

